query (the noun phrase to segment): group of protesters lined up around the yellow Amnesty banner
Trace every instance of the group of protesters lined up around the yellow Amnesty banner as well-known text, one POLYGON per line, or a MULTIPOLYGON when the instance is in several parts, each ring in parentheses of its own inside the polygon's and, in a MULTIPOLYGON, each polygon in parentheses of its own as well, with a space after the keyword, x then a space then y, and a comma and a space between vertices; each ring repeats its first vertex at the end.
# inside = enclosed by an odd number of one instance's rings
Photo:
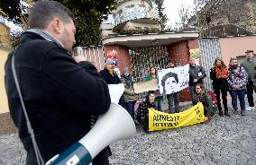
MULTIPOLYGON (((189 57, 189 90, 192 100, 192 104, 196 105, 198 102, 202 102, 204 106, 204 114, 206 116, 206 122, 210 121, 211 117, 215 115, 216 110, 219 112, 219 116, 231 117, 230 110, 227 106, 228 92, 232 98, 232 106, 234 114, 241 113, 245 116, 245 94, 247 93, 249 107, 247 109, 253 109, 253 81, 255 80, 256 62, 252 58, 253 51, 247 50, 245 52, 246 60, 241 65, 238 64, 237 58, 230 59, 230 64, 227 66, 221 57, 215 58, 215 63, 210 70, 209 76, 212 80, 212 87, 216 98, 216 103, 213 100, 211 93, 205 89, 203 83, 206 78, 206 71, 201 65, 196 65, 196 58, 189 57), (240 111, 237 107, 237 98, 240 101, 240 111), (224 110, 223 110, 224 109, 224 110)), ((107 59, 108 62, 111 59, 107 59)), ((105 67, 107 67, 107 63, 105 67)), ((170 59, 166 65, 166 68, 178 67, 170 59)), ((114 63, 112 65, 114 68, 114 63)), ((101 71, 102 72, 102 71, 101 71)), ((115 73, 116 74, 116 73, 115 73)), ((105 77, 105 76, 104 76, 105 77)), ((118 78, 118 76, 113 76, 118 78)), ((145 82, 151 80, 158 81, 158 70, 156 67, 151 66, 150 72, 145 76, 145 82)), ((106 79, 107 80, 107 79, 106 79)), ((144 130, 148 130, 148 109, 154 108, 159 111, 163 111, 162 101, 164 99, 163 94, 160 91, 148 91, 148 94, 144 100, 140 102, 139 108, 134 113, 134 105, 137 100, 140 100, 140 95, 136 94, 133 89, 133 83, 135 83, 133 76, 129 71, 129 68, 123 69, 123 74, 120 75, 120 80, 124 84, 125 91, 120 101, 121 105, 130 113, 130 115, 141 123, 144 130), (153 101, 152 101, 153 100, 153 101), (122 104, 123 102, 123 104, 122 104)), ((106 81, 108 83, 108 81, 106 81)), ((118 83, 116 81, 115 83, 118 83)), ((179 112, 179 91, 167 94, 166 96, 169 104, 169 113, 179 112)))

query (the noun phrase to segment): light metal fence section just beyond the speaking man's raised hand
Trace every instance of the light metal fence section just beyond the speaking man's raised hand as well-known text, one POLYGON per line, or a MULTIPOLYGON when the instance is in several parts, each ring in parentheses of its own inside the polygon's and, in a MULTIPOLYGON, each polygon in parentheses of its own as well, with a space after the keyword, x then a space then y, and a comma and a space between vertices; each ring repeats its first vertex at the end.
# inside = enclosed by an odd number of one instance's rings
POLYGON ((104 69, 105 56, 102 46, 76 47, 75 54, 78 56, 86 56, 87 61, 92 62, 98 71, 104 69))

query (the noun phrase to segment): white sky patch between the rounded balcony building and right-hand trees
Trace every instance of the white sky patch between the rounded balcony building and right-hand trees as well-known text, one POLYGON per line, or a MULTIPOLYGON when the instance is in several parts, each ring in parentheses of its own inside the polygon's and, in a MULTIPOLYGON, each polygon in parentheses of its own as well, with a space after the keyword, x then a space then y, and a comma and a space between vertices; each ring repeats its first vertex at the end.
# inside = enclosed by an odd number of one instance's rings
POLYGON ((167 22, 167 26, 174 26, 176 22, 180 22, 178 16, 178 10, 181 8, 181 5, 185 7, 192 8, 194 0, 165 0, 165 14, 169 18, 169 22, 167 22))

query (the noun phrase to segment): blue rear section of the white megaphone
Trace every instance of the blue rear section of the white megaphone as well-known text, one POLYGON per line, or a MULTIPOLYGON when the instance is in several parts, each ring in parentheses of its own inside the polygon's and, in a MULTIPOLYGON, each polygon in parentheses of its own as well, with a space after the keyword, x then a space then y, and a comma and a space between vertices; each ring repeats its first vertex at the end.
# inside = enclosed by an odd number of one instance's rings
POLYGON ((87 148, 81 143, 73 143, 50 165, 87 165, 90 162, 92 162, 92 157, 87 148))

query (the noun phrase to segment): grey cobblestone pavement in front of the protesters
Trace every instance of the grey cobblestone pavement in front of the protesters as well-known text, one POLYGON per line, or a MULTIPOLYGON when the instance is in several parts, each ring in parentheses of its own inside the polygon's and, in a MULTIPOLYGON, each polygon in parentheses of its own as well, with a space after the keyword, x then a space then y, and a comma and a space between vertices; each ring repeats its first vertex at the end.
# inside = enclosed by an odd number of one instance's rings
MULTIPOLYGON (((246 111, 245 117, 231 114, 232 117, 216 114, 207 124, 150 134, 137 127, 133 138, 111 144, 110 164, 255 165, 256 109, 246 111)), ((0 135, 0 165, 24 162, 25 152, 18 135, 0 135)))

